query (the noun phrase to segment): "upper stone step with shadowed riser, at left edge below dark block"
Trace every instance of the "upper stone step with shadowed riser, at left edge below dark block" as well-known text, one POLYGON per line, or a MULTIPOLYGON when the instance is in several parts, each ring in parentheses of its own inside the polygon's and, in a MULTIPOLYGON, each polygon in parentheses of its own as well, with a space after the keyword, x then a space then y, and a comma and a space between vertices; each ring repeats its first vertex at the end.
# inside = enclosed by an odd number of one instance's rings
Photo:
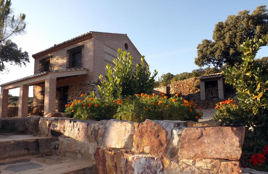
POLYGON ((35 154, 50 154, 53 137, 0 134, 0 159, 35 154))

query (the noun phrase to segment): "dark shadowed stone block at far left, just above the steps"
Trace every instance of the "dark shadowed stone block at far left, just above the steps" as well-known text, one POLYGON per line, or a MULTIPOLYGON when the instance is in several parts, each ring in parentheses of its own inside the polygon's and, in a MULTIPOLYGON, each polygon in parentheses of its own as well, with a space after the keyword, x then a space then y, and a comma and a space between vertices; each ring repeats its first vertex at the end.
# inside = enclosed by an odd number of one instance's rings
POLYGON ((26 131, 25 118, 0 118, 0 133, 26 131))

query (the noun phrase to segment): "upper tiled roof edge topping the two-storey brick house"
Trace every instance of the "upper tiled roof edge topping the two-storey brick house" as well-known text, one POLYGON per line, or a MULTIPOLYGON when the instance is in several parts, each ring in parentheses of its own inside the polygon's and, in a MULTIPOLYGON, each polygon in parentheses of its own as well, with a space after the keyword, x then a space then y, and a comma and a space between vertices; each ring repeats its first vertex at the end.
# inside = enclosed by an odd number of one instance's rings
MULTIPOLYGON (((57 47, 59 47, 59 46, 61 46, 61 45, 65 45, 65 44, 70 43, 70 42, 72 42, 72 41, 77 41, 78 39, 92 36, 93 34, 121 35, 121 36, 126 36, 126 37, 127 37, 126 34, 120 34, 120 33, 108 33, 108 32, 90 31, 90 32, 81 34, 81 35, 79 35, 79 36, 77 36, 77 37, 75 37, 75 38, 72 38, 72 39, 69 39, 69 40, 67 40, 67 41, 61 42, 61 43, 59 43, 59 44, 55 44, 54 46, 51 46, 50 48, 47 48, 47 49, 45 49, 45 50, 43 50, 43 51, 40 51, 40 52, 38 52, 38 53, 33 54, 32 57, 35 57, 36 55, 39 55, 40 53, 49 51, 49 50, 51 50, 51 49, 57 48, 57 47)), ((134 44, 133 44, 133 45, 134 45, 134 44)))

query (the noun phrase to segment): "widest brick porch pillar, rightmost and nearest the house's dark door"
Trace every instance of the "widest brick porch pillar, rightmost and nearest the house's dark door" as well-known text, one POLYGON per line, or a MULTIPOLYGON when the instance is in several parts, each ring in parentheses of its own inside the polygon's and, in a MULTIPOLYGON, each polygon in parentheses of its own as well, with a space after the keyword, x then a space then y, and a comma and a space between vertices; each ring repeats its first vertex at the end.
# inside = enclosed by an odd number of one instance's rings
POLYGON ((49 78, 45 81, 44 114, 55 111, 56 108, 56 79, 49 78))

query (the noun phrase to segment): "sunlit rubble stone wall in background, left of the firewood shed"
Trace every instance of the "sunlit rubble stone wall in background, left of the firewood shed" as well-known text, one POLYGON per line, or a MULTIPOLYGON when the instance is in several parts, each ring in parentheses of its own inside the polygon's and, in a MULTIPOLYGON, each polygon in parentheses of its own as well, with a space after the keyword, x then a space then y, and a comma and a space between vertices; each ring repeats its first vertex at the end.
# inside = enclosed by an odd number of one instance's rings
POLYGON ((180 95, 187 95, 191 92, 199 91, 198 88, 195 87, 196 84, 199 83, 199 77, 192 77, 185 80, 180 80, 171 83, 170 86, 170 94, 180 94, 180 95))

